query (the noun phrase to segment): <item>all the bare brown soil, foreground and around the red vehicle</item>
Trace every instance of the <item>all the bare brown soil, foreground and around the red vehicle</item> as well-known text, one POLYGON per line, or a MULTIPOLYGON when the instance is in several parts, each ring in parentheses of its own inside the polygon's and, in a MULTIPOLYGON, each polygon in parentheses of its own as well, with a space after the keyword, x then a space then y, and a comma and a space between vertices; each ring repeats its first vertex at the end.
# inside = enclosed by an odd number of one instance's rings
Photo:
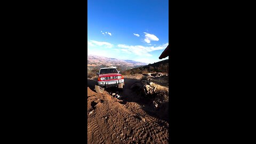
POLYGON ((109 88, 102 94, 94 90, 96 81, 87 79, 88 143, 169 143, 168 119, 154 114, 151 101, 130 89, 139 78, 126 77, 123 90, 109 88), (113 92, 122 98, 112 97, 113 92))

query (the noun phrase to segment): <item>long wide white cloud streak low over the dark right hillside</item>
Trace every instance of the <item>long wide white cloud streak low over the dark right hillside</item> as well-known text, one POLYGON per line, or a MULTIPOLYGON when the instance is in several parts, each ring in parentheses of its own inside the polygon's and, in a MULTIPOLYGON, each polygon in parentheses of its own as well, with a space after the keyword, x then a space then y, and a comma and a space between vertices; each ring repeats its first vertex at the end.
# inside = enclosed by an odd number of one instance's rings
POLYGON ((126 53, 134 53, 135 55, 140 56, 147 56, 151 57, 153 55, 149 54, 149 52, 156 51, 156 50, 164 50, 169 43, 159 45, 159 46, 142 46, 142 45, 125 45, 125 44, 118 44, 118 47, 121 47, 122 49, 120 51, 126 52, 126 53))

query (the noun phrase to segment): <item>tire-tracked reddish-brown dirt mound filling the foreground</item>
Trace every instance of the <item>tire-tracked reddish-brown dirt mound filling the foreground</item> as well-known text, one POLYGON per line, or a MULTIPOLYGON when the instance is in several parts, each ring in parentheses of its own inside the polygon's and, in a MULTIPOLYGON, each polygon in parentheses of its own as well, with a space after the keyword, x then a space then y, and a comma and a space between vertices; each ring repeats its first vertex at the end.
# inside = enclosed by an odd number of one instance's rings
POLYGON ((88 143, 168 143, 168 124, 149 116, 138 103, 123 105, 106 93, 88 95, 88 143))

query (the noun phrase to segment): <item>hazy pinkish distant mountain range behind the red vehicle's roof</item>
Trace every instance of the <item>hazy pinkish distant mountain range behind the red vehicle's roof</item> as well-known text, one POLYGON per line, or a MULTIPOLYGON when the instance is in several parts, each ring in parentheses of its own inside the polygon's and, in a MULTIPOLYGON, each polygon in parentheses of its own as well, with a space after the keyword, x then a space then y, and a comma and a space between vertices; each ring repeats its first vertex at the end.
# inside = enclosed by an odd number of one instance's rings
POLYGON ((140 66, 148 65, 148 63, 133 61, 133 60, 119 60, 115 58, 101 57, 98 55, 87 55, 87 69, 99 69, 101 67, 118 67, 119 70, 127 70, 140 66))

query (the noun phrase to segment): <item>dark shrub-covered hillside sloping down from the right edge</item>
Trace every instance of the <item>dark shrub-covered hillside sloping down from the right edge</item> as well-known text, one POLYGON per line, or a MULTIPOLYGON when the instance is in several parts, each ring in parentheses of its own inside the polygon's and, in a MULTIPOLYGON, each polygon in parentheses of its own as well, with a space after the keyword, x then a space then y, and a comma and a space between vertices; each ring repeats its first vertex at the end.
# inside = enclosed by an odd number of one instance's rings
POLYGON ((122 72, 122 74, 132 75, 132 74, 146 74, 146 73, 154 73, 154 72, 169 73, 169 59, 155 62, 147 66, 141 66, 138 68, 125 70, 122 72))

